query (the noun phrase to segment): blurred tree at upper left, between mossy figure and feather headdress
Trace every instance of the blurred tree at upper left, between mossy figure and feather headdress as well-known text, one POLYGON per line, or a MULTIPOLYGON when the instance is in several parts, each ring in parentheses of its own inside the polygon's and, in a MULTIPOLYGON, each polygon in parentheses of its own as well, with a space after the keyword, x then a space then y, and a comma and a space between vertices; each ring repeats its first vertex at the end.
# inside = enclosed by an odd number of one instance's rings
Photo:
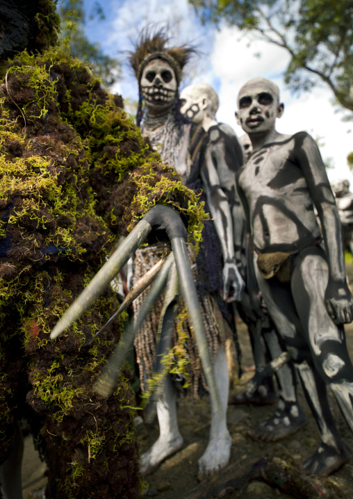
MULTIPOLYGON (((60 40, 69 45, 74 57, 92 66, 93 72, 109 87, 120 78, 120 61, 107 56, 99 43, 92 43, 85 35, 86 15, 83 0, 64 0, 58 6, 61 18, 60 40)), ((90 19, 104 19, 104 11, 99 2, 92 9, 90 19)))

